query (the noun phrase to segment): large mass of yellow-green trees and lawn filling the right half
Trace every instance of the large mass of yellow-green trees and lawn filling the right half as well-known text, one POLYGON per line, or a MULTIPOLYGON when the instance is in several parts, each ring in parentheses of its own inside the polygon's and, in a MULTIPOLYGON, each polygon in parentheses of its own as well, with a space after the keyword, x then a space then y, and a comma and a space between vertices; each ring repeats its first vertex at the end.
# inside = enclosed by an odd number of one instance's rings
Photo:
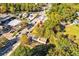
MULTIPOLYGON (((52 7, 46 13, 48 19, 44 22, 44 31, 42 34, 40 34, 39 31, 36 30, 36 32, 38 33, 36 35, 43 35, 43 37, 49 38, 50 43, 56 45, 55 49, 50 49, 47 55, 79 55, 78 43, 76 43, 78 42, 78 39, 77 41, 74 40, 79 36, 78 26, 72 25, 68 28, 63 29, 64 33, 66 33, 67 35, 63 34, 63 30, 60 26, 60 22, 62 21, 64 21, 66 24, 69 24, 68 22, 72 23, 72 21, 76 19, 76 12, 79 11, 78 6, 79 4, 52 4, 52 7)), ((40 31, 42 32, 42 30, 40 31)))

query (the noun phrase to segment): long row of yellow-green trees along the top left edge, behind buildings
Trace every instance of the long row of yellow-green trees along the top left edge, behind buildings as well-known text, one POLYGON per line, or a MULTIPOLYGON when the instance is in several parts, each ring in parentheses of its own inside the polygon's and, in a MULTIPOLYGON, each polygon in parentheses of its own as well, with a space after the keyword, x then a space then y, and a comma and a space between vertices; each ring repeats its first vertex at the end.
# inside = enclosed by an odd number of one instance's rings
POLYGON ((19 13, 19 12, 34 12, 34 11, 40 11, 42 10, 41 4, 35 4, 35 3, 2 3, 0 4, 0 13, 19 13))

